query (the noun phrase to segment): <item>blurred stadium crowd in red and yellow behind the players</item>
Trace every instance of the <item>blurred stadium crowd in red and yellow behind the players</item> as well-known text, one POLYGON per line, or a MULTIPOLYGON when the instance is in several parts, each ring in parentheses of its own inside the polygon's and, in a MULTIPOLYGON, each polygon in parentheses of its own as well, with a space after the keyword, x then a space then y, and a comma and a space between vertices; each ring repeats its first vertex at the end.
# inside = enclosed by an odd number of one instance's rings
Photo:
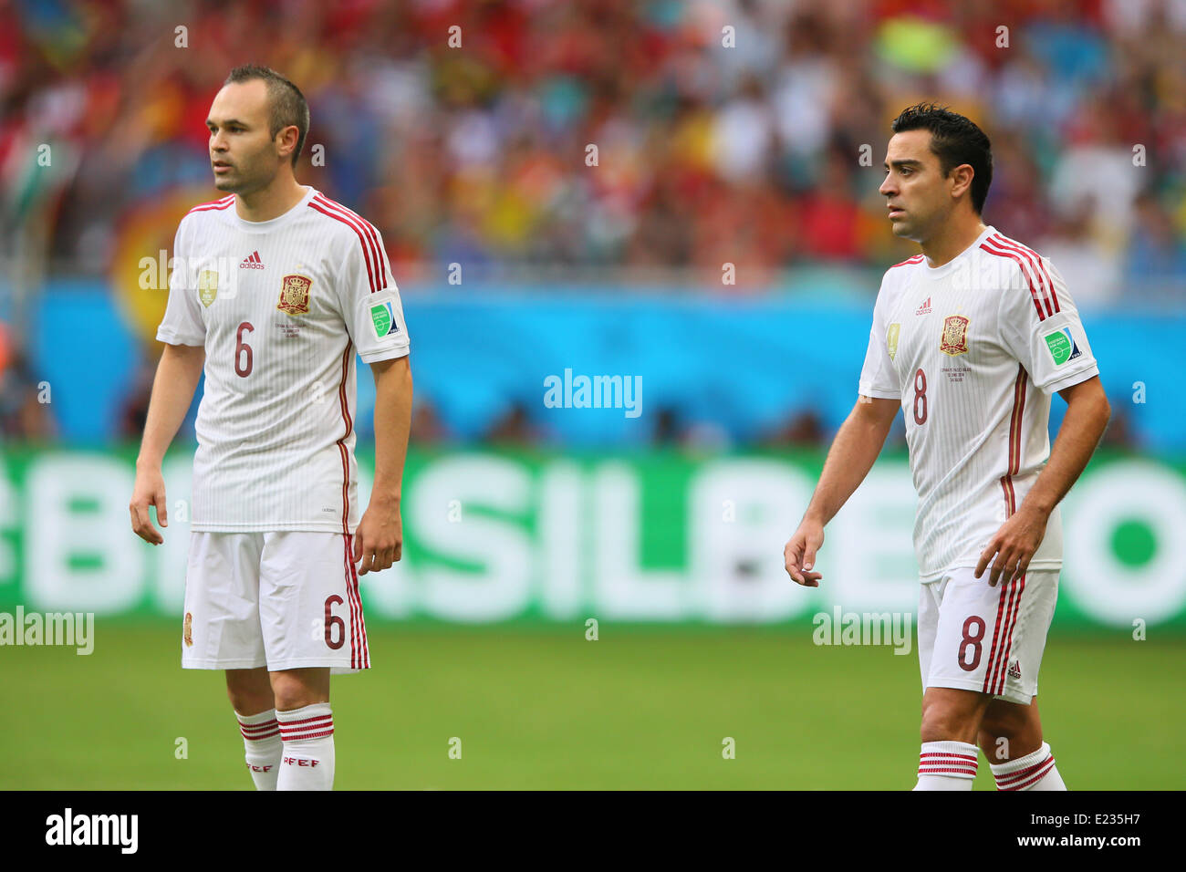
POLYGON ((0 0, 0 18, 4 238, 44 244, 50 274, 106 275, 122 215, 210 183, 206 110, 253 59, 305 91, 299 179, 382 230, 406 295, 449 262, 677 268, 745 293, 793 291, 793 267, 875 273, 914 250, 876 189, 890 121, 924 98, 988 131, 986 219, 1082 306, 1173 304, 1186 282, 1186 0, 0 0))

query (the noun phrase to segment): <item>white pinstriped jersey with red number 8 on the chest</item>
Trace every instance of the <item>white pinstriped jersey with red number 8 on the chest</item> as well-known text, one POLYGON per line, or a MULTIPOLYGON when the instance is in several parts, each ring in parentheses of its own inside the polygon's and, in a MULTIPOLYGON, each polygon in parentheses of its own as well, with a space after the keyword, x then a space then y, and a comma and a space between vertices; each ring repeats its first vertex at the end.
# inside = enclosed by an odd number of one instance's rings
MULTIPOLYGON (((1050 458, 1051 395, 1098 373, 1058 270, 995 228, 886 270, 860 393, 901 402, 922 581, 976 566, 1050 458)), ((1029 567, 1061 565, 1056 507, 1029 567)))

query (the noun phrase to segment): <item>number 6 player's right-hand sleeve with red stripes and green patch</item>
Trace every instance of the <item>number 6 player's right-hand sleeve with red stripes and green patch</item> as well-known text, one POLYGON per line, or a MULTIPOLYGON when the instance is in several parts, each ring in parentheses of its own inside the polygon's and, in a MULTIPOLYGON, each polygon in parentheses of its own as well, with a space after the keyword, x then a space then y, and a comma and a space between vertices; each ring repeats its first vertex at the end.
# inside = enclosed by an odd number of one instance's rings
POLYGON ((338 294, 350 338, 364 363, 403 357, 409 351, 400 288, 378 230, 368 244, 352 240, 344 259, 338 294))

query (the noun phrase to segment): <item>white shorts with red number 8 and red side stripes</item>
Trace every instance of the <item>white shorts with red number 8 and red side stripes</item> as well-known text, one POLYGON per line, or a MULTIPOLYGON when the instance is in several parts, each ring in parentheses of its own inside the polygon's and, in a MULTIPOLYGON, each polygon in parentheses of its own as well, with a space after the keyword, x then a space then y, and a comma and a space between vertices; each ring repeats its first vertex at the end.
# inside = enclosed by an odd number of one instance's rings
POLYGON ((918 664, 923 689, 955 687, 1028 706, 1054 617, 1058 571, 1027 572, 995 587, 989 569, 952 569, 920 585, 918 664))

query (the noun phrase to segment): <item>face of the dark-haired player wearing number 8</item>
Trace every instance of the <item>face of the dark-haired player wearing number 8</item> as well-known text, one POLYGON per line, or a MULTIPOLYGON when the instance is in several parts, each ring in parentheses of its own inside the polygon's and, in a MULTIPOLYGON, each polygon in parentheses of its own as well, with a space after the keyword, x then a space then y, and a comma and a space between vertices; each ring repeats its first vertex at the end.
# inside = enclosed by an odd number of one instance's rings
POLYGON ((930 131, 904 131, 890 138, 886 178, 879 189, 890 208, 894 236, 925 242, 954 206, 930 131))

